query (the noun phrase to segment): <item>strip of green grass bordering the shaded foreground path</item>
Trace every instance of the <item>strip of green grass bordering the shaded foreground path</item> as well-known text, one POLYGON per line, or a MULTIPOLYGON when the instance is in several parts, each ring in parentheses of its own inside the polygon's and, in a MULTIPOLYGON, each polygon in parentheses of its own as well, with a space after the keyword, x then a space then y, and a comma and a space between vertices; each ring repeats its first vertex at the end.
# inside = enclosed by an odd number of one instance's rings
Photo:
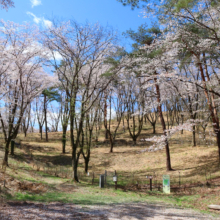
MULTIPOLYGON (((143 193, 124 192, 114 189, 100 189, 94 186, 80 184, 73 192, 48 192, 44 194, 16 193, 13 200, 16 201, 33 201, 33 202, 62 202, 80 205, 111 205, 121 203, 166 203, 171 206, 193 208, 192 203, 199 198, 199 195, 190 196, 173 196, 164 195, 161 192, 147 191, 143 193), (81 185, 81 186, 80 186, 81 185)), ((199 211, 199 210, 197 210, 199 211)), ((212 214, 209 211, 203 213, 212 214)))

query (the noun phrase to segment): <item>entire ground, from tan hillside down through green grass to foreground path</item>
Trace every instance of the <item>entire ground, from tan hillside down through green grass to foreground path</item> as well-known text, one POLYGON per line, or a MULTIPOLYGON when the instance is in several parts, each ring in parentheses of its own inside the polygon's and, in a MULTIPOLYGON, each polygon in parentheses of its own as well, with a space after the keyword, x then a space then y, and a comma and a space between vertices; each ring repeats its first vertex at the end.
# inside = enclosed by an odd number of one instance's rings
MULTIPOLYGON (((207 207, 210 204, 220 205, 220 169, 217 147, 213 145, 211 138, 207 137, 206 143, 198 140, 198 145, 192 147, 189 132, 175 135, 170 140, 171 163, 175 171, 166 172, 165 151, 149 152, 146 149, 151 143, 141 141, 142 138, 152 136, 150 127, 144 127, 136 146, 133 146, 128 133, 119 130, 113 153, 109 153, 109 144, 104 142, 103 134, 101 135, 99 142, 92 147, 89 172, 100 174, 105 170, 116 170, 126 176, 128 187, 118 190, 112 187, 100 189, 98 184, 91 185, 91 182, 85 181, 74 183, 69 178, 48 175, 43 169, 36 170, 34 160, 45 166, 52 164, 58 169, 61 166, 70 168, 70 143, 67 142, 67 153, 64 155, 61 153, 60 132, 49 133, 49 142, 40 140, 38 133, 28 134, 26 138, 20 135, 24 148, 16 148, 15 156, 10 156, 9 168, 0 172, 1 215, 5 218, 8 213, 12 216, 15 213, 26 213, 27 216, 37 213, 29 219, 44 219, 38 215, 41 210, 45 219, 50 219, 52 214, 57 214, 58 219, 65 219, 62 215, 66 215, 69 210, 70 216, 76 216, 67 219, 212 219, 210 215, 204 217, 198 212, 179 208, 184 207, 219 216, 219 211, 209 210, 207 207), (141 187, 148 184, 146 175, 149 174, 157 176, 158 182, 162 182, 163 174, 169 174, 171 184, 172 181, 178 183, 181 177, 183 187, 181 190, 171 190, 169 195, 156 189, 151 192, 141 187), (136 182, 140 187, 136 186, 136 182), (204 187, 207 182, 210 186, 204 187), (187 184, 193 186, 194 183, 202 183, 203 187, 187 188, 187 184), (60 206, 63 207, 62 210, 59 210, 60 206), (132 207, 136 207, 138 211, 135 212, 132 207), (136 216, 132 213, 136 213, 136 216), (138 216, 139 213, 143 213, 143 216, 138 216)), ((157 128, 156 135, 160 135, 160 128, 157 128)), ((0 158, 3 157, 3 150, 0 147, 0 158)), ((79 161, 79 171, 84 171, 83 158, 79 161)), ((16 219, 12 216, 8 219, 16 219)))

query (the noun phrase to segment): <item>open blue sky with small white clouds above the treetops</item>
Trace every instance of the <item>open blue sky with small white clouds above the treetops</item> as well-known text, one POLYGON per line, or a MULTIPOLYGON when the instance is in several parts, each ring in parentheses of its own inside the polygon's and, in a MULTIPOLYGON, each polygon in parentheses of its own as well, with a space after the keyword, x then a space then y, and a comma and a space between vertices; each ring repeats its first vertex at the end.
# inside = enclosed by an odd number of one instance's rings
MULTIPOLYGON (((140 10, 131 10, 116 0, 14 0, 15 8, 1 10, 1 19, 17 23, 35 22, 50 24, 53 17, 75 19, 83 23, 107 24, 119 32, 137 30, 143 23, 151 24, 142 17, 140 10)), ((129 50, 131 41, 123 39, 122 45, 129 50)))

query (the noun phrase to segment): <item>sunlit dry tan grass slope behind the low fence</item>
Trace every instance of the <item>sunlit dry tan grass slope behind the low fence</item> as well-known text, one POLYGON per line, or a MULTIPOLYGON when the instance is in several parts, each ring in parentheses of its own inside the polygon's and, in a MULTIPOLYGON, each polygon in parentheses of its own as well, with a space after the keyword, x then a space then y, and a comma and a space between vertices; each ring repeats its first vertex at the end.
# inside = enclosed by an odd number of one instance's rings
MULTIPOLYGON (((162 132, 157 126, 157 134, 162 132)), ((40 140, 40 134, 28 134, 27 138, 20 135, 22 143, 30 146, 35 157, 43 162, 52 162, 55 165, 71 165, 71 146, 67 141, 67 154, 61 154, 61 132, 49 133, 49 142, 40 140)), ((68 133, 69 136, 69 133, 68 133)), ((104 142, 104 130, 101 131, 99 143, 94 143, 91 151, 90 172, 101 173, 104 170, 145 176, 155 173, 157 176, 169 173, 173 178, 179 177, 182 181, 206 182, 211 177, 220 176, 218 166, 218 151, 215 145, 204 145, 199 142, 197 147, 191 145, 191 133, 184 131, 183 134, 176 134, 170 140, 171 164, 175 171, 166 171, 165 150, 157 152, 144 152, 151 143, 140 141, 142 138, 152 136, 152 128, 144 126, 137 146, 133 146, 128 132, 123 133, 122 126, 116 138, 114 152, 109 153, 110 146, 104 142)), ((209 138, 209 137, 208 137, 209 138)), ((80 158, 79 170, 83 171, 84 161, 80 158)))

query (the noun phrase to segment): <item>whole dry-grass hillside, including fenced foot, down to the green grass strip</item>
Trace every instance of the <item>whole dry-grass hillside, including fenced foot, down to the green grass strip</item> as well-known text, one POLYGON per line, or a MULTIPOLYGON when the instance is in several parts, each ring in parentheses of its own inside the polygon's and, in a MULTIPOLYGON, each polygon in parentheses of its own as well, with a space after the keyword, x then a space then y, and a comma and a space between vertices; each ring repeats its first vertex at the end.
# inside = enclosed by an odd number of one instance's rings
MULTIPOLYGON (((159 135, 159 126, 156 131, 159 135)), ((62 193, 66 194, 69 190, 83 193, 85 186, 91 186, 93 175, 95 178, 93 187, 96 189, 99 174, 105 173, 105 170, 109 175, 109 187, 114 190, 114 183, 110 176, 116 170, 119 176, 119 188, 122 190, 131 190, 144 195, 149 193, 159 200, 175 201, 174 203, 178 201, 180 205, 201 210, 207 210, 207 205, 210 203, 220 205, 217 147, 210 144, 211 140, 207 140, 209 145, 200 141, 197 147, 192 147, 190 132, 184 131, 183 134, 176 134, 170 140, 171 163, 175 170, 166 172, 164 150, 143 152, 151 145, 140 140, 152 136, 152 128, 149 124, 144 126, 136 146, 133 146, 128 132, 124 133, 121 127, 113 153, 109 153, 110 147, 108 141, 104 141, 104 130, 102 130, 99 142, 94 142, 91 150, 89 176, 84 174, 84 161, 80 157, 79 179, 81 183, 77 184, 71 183, 70 142, 67 143, 67 153, 62 154, 61 136, 60 132, 49 133, 47 143, 40 140, 38 133, 28 134, 26 138, 22 134, 19 135, 22 140, 21 148, 16 148, 14 157, 10 156, 9 168, 6 168, 5 173, 2 170, 0 177, 1 187, 4 189, 3 180, 6 180, 5 184, 8 189, 6 194, 3 191, 4 198, 25 201, 64 201, 66 197, 62 193), (162 188, 162 175, 164 174, 171 176, 173 189, 171 189, 169 199, 158 191, 158 187, 160 190, 162 188), (149 191, 147 175, 154 177, 153 192, 149 191), (210 184, 209 187, 206 187, 207 182, 210 184), (65 187, 62 187, 62 184, 65 187), (83 188, 81 188, 82 184, 83 188), (55 196, 54 193, 57 190, 61 194, 55 196), (39 193, 41 196, 37 196, 39 193), (51 198, 48 198, 48 193, 52 193, 51 198)), ((0 156, 3 157, 3 147, 0 149, 0 156)))

